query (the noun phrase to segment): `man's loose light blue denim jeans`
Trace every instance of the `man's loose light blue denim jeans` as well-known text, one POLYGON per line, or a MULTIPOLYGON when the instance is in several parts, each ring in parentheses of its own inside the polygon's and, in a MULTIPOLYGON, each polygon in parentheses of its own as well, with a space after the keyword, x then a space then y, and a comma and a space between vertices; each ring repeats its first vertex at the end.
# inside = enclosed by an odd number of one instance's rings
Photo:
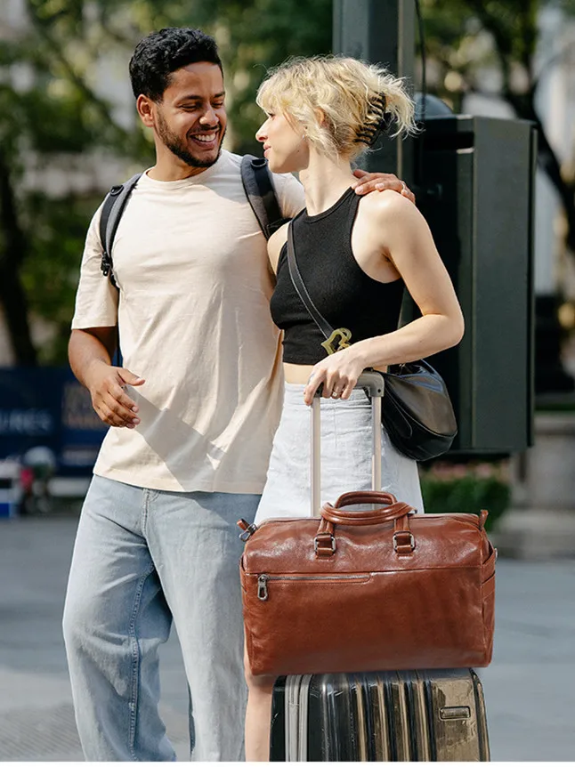
POLYGON ((158 646, 172 619, 190 688, 192 761, 241 761, 247 688, 236 522, 256 495, 177 493, 93 477, 64 638, 87 761, 170 762, 158 646))

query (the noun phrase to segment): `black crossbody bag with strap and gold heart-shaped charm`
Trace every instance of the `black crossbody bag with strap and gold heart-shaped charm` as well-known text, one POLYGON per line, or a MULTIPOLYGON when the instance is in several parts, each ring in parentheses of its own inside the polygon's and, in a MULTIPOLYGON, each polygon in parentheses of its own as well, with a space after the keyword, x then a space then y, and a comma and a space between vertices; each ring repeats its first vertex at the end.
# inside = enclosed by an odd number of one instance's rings
MULTIPOLYGON (((334 329, 323 317, 307 291, 297 266, 293 224, 288 227, 288 268, 305 308, 320 328, 328 354, 349 346, 352 334, 334 329), (337 344, 337 345, 336 345, 337 344)), ((382 422, 390 440, 400 453, 416 461, 441 456, 451 447, 458 424, 441 375, 425 359, 390 365, 385 379, 382 422)))

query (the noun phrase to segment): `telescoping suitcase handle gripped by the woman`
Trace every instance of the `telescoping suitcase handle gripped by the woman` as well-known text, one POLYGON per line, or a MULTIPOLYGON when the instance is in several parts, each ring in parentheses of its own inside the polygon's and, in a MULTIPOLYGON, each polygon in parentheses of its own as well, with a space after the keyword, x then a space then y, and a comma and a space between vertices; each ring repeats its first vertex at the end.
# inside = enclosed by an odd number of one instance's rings
MULTIPOLYGON (((355 384, 371 397, 373 426, 372 485, 381 490, 381 401, 384 396, 384 376, 375 370, 364 371, 355 384)), ((311 516, 320 516, 321 505, 321 440, 320 440, 320 392, 315 393, 312 403, 312 507, 311 516)))

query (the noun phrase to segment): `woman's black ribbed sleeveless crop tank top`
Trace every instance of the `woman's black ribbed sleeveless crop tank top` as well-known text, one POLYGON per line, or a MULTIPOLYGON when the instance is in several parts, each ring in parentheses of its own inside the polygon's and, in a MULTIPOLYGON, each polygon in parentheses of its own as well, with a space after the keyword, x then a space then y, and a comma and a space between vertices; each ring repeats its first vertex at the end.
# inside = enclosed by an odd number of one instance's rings
MULTIPOLYGON (((329 324, 352 331, 352 343, 397 328, 403 280, 368 277, 352 254, 352 228, 360 197, 350 188, 328 210, 294 219, 296 261, 313 303, 329 324)), ((279 254, 271 317, 284 331, 284 362, 315 365, 327 356, 325 340, 297 295, 288 267, 288 246, 279 254)))

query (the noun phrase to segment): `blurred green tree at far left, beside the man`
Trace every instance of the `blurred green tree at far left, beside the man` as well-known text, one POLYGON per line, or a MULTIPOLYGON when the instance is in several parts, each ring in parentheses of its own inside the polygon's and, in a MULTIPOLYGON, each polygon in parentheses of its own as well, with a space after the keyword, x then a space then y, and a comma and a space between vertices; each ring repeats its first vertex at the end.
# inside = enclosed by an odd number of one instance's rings
MULTIPOLYGON (((86 224, 101 190, 60 195, 48 179, 82 173, 86 157, 150 157, 98 93, 98 61, 169 17, 160 2, 25 0, 26 19, 0 39, 0 304, 16 364, 63 362, 86 224), (122 29, 119 35, 117 29, 122 29), (36 351, 31 315, 53 326, 36 351)), ((68 187, 68 189, 66 189, 68 187)))

